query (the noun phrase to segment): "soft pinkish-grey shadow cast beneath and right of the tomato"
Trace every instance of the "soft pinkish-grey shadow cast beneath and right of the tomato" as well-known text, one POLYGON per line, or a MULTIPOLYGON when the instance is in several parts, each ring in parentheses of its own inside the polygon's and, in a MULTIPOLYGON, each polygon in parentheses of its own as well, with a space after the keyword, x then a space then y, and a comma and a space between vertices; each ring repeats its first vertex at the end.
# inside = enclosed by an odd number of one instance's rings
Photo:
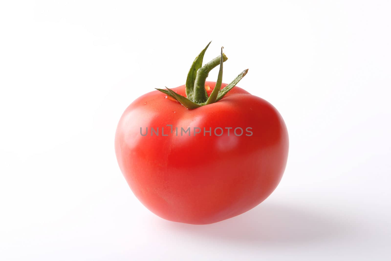
POLYGON ((210 225, 189 225, 170 221, 167 221, 166 225, 170 230, 178 230, 192 236, 278 244, 300 244, 306 241, 340 238, 350 230, 345 221, 327 216, 325 213, 265 203, 237 217, 210 225))

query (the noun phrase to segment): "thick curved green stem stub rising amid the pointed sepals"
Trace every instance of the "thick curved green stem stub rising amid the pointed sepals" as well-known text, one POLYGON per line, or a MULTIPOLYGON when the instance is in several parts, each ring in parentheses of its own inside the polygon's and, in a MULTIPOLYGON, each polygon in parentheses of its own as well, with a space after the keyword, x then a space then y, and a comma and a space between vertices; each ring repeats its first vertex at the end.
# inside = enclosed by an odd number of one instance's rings
MULTIPOLYGON (((226 61, 228 58, 225 54, 222 54, 223 61, 226 61)), ((193 90, 193 101, 195 103, 204 103, 208 100, 208 94, 205 90, 205 81, 208 77, 209 72, 220 64, 221 56, 217 56, 209 63, 206 63, 203 67, 197 70, 197 75, 195 76, 194 81, 194 90, 193 90)))

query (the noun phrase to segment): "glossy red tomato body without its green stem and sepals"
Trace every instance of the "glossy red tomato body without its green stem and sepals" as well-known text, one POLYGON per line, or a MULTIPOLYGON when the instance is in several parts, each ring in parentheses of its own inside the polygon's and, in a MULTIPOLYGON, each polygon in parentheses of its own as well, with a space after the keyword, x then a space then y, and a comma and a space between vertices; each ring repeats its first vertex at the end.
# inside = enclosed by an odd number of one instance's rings
MULTIPOLYGON (((185 96, 185 85, 172 90, 185 96)), ((145 207, 166 220, 209 224, 252 209, 274 191, 285 170, 289 141, 270 103, 237 86, 220 101, 194 110, 164 97, 154 91, 136 99, 115 134, 120 169, 145 207), (146 127, 159 127, 159 136, 148 131, 143 137, 140 127, 144 134, 146 127), (168 136, 161 135, 161 127, 168 136), (176 136, 176 127, 191 127, 190 137, 176 136), (194 127, 201 133, 194 136, 194 127), (212 136, 203 136, 203 127, 211 128, 212 136), (224 130, 220 137, 213 133, 217 127, 224 130), (230 136, 226 127, 233 128, 230 136), (234 135, 236 127, 243 129, 242 136, 234 135), (251 136, 246 136, 247 127, 251 136)))

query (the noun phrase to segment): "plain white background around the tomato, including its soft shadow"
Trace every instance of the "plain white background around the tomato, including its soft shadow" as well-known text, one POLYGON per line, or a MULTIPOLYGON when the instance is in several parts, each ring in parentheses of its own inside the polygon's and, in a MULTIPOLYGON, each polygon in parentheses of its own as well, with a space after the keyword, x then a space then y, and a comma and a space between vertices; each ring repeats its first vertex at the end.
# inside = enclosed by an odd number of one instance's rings
MULTIPOLYGON (((2 1, 0 260, 390 260, 389 1, 2 1), (271 102, 287 169, 212 225, 138 202, 114 153, 123 110, 219 55, 271 102)), ((208 78, 217 79, 217 70, 208 78)))

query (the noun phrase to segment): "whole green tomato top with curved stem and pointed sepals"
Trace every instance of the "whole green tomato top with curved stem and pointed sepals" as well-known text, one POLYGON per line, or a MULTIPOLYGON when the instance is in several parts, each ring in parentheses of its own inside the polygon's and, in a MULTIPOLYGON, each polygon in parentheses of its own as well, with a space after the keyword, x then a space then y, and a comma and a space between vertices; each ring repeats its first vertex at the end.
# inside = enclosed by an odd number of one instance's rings
POLYGON ((186 96, 182 96, 180 94, 177 94, 173 90, 170 90, 169 88, 165 87, 167 90, 164 89, 158 89, 156 90, 163 92, 164 94, 168 95, 169 97, 175 99, 179 103, 181 103, 183 106, 185 106, 187 109, 192 110, 207 104, 215 103, 224 97, 239 81, 247 74, 248 69, 241 72, 233 81, 221 89, 222 85, 222 64, 224 61, 226 61, 228 58, 225 56, 225 54, 222 52, 222 49, 224 47, 221 47, 221 55, 217 56, 216 58, 212 59, 212 61, 206 63, 204 66, 202 66, 203 58, 206 49, 208 49, 208 46, 211 42, 206 45, 206 47, 200 52, 200 54, 194 59, 194 62, 192 66, 190 67, 189 73, 187 74, 186 79, 186 96), (213 89, 212 93, 210 93, 208 97, 208 92, 205 89, 205 81, 206 77, 208 77, 209 72, 217 67, 217 65, 220 65, 219 68, 219 75, 217 77, 215 88, 213 89))

